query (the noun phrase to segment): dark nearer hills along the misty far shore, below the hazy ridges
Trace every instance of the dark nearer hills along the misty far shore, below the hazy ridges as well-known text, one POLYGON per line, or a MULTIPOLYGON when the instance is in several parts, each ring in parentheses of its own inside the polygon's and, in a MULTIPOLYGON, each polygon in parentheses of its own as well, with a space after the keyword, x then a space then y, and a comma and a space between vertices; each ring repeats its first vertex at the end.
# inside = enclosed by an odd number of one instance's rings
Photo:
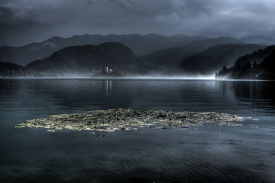
POLYGON ((263 45, 215 45, 193 54, 181 47, 162 49, 147 56, 137 57, 120 42, 101 45, 71 46, 51 56, 34 60, 27 66, 0 62, 2 77, 87 77, 104 69, 106 64, 126 75, 211 75, 223 64, 231 66, 234 60, 263 45), (184 59, 181 59, 184 58, 184 59))

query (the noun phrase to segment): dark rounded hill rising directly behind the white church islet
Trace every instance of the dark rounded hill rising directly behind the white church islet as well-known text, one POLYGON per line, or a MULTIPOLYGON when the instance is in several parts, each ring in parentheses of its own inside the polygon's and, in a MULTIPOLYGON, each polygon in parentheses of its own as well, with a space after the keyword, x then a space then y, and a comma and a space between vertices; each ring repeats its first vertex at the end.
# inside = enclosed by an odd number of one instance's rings
POLYGON ((37 76, 91 75, 108 64, 115 71, 142 73, 142 62, 120 42, 66 47, 43 60, 31 62, 25 69, 37 76))

